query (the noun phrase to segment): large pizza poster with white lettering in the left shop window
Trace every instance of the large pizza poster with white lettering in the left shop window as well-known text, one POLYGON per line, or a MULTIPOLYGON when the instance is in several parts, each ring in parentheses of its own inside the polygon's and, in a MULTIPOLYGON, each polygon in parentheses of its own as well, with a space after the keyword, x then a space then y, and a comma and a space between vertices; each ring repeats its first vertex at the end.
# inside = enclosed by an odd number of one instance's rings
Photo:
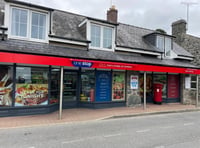
POLYGON ((16 84, 15 106, 48 104, 48 84, 16 84))

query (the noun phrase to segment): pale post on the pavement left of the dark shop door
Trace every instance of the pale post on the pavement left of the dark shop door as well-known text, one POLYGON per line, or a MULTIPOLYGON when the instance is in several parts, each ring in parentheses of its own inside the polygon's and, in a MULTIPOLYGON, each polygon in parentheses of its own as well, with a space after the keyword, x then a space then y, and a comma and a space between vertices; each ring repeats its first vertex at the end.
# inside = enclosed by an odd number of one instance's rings
POLYGON ((59 107, 59 120, 62 119, 62 100, 63 100, 63 66, 60 67, 60 107, 59 107))

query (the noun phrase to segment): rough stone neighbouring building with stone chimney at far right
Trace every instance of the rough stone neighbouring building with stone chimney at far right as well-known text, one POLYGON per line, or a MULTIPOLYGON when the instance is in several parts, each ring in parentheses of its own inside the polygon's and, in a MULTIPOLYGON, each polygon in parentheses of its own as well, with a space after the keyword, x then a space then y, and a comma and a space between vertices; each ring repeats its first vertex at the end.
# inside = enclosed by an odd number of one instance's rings
MULTIPOLYGON (((194 60, 191 61, 192 64, 200 67, 200 38, 189 35, 187 32, 187 23, 185 20, 178 20, 172 23, 172 35, 176 38, 174 41, 190 52, 194 56, 194 60)), ((200 89, 199 85, 197 87, 197 79, 195 75, 190 75, 191 88, 184 92, 184 98, 187 103, 196 103, 196 88, 200 89)), ((200 81, 200 78, 198 79, 200 81)), ((198 94, 199 98, 200 94, 198 94)))

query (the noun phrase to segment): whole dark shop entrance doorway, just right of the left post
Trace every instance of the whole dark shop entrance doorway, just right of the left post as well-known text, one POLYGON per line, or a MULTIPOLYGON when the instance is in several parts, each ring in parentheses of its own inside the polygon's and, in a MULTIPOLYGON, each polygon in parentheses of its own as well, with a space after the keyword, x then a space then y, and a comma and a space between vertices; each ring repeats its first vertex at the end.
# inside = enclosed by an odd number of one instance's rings
POLYGON ((77 105, 77 71, 64 71, 63 75, 63 108, 77 105))

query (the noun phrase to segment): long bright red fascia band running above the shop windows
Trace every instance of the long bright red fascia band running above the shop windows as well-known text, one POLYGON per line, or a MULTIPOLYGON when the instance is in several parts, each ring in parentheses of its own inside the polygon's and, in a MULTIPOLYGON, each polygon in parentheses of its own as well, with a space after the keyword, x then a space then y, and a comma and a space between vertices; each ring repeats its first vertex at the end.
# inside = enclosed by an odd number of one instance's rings
POLYGON ((81 60, 72 58, 61 58, 52 56, 40 56, 40 55, 6 53, 6 52, 0 52, 0 62, 70 66, 70 67, 90 67, 90 68, 119 69, 119 70, 133 70, 133 71, 200 74, 200 69, 156 66, 156 65, 145 65, 145 64, 128 64, 121 62, 107 62, 107 61, 95 61, 95 60, 81 60))

